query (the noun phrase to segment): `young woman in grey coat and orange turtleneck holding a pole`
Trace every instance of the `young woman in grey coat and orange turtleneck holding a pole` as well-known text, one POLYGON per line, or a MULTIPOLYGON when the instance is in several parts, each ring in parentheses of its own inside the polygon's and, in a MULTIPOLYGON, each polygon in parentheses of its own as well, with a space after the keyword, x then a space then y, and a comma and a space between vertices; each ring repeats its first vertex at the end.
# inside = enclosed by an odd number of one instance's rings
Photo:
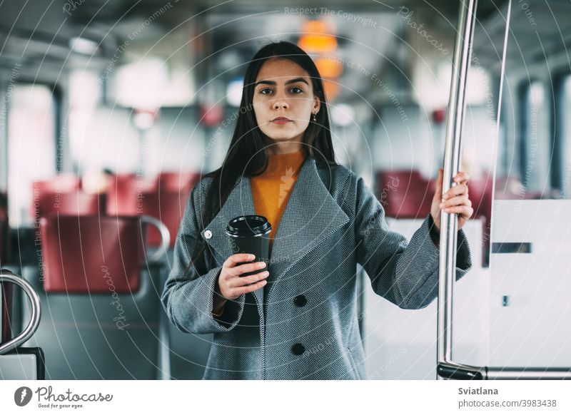
MULTIPOLYGON (((203 379, 363 379, 356 268, 375 292, 405 309, 438 294, 440 210, 473 214, 468 175, 442 195, 410 242, 389 230, 363 178, 335 163, 323 81, 289 42, 250 62, 241 110, 221 168, 188 200, 162 301, 184 332, 213 333, 203 379), (271 257, 234 254, 228 221, 263 215, 271 257), (237 265, 240 262, 252 262, 237 265), (248 277, 246 272, 258 271, 248 277)), ((458 232, 457 279, 470 268, 458 232)))

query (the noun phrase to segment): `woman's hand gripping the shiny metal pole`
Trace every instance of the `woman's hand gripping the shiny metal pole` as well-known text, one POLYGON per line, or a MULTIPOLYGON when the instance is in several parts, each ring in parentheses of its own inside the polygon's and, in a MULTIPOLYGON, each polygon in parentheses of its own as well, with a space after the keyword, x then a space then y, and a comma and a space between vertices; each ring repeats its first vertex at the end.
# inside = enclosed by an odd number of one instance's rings
POLYGON ((433 198, 433 204, 430 207, 430 215, 433 216, 436 230, 440 231, 440 210, 446 213, 458 213, 458 229, 463 227, 465 222, 472 217, 474 210, 472 202, 468 198, 468 179, 470 175, 464 172, 458 172, 454 176, 454 182, 458 183, 442 194, 444 170, 438 170, 438 180, 436 182, 436 192, 433 198))

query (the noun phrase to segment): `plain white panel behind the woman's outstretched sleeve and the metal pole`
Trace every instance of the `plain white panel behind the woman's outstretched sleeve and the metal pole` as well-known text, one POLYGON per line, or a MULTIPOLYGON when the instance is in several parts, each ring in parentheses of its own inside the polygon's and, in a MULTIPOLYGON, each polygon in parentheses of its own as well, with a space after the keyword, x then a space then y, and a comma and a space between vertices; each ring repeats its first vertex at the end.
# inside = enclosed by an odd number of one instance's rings
MULTIPOLYGON (((408 239, 423 220, 388 219, 392 230, 408 239)), ((455 285, 454 358, 460 362, 485 365, 489 359, 490 274, 482 268, 480 220, 464 227, 473 256, 473 270, 455 285)), ((363 341, 368 379, 436 378, 437 304, 418 310, 400 309, 378 296, 365 284, 363 341)))

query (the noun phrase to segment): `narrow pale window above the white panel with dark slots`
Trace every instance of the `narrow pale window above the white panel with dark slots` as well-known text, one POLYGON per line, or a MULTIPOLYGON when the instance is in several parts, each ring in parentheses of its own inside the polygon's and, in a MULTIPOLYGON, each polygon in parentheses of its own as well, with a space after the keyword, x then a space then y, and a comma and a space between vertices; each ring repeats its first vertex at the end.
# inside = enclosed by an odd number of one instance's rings
POLYGON ((551 140, 545 86, 531 81, 522 88, 520 112, 520 176, 522 196, 542 198, 550 192, 551 140))

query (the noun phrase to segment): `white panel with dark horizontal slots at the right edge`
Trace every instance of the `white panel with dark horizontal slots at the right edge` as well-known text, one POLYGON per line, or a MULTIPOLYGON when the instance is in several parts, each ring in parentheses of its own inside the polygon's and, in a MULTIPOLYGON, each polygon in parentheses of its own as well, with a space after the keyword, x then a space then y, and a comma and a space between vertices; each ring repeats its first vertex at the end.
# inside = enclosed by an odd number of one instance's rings
POLYGON ((571 200, 493 210, 490 365, 570 367, 571 200))

